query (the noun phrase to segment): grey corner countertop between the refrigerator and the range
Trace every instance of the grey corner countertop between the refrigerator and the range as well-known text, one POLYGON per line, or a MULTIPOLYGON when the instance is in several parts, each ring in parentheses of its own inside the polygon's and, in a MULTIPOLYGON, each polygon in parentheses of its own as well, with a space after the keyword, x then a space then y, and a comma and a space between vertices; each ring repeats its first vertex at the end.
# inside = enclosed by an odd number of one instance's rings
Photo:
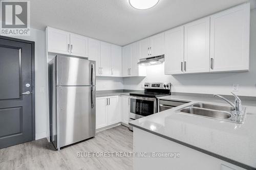
POLYGON ((96 91, 96 97, 110 96, 110 95, 130 95, 131 92, 143 92, 143 90, 99 90, 96 91))

